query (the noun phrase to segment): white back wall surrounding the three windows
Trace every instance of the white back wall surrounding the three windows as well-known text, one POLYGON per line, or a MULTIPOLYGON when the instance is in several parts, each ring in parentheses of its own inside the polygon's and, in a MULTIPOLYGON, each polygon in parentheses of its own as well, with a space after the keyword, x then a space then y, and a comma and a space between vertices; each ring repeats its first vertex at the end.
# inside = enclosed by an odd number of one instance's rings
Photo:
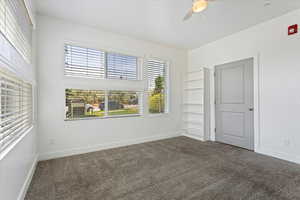
MULTIPOLYGON (((48 159, 101 148, 178 135, 182 74, 187 52, 59 19, 39 16, 39 151, 48 159), (144 89, 144 82, 64 77, 64 44, 110 50, 170 61, 170 113, 118 119, 64 121, 65 89, 144 89)), ((146 105, 146 104, 144 104, 146 105)))

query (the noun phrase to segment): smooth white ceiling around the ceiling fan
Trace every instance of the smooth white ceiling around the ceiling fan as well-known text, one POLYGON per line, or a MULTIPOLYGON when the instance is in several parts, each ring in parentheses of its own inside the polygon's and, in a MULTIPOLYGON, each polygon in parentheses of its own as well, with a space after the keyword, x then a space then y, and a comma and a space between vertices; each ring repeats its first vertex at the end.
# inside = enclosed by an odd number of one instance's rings
POLYGON ((205 43, 300 8, 300 0, 215 0, 189 21, 191 0, 36 0, 39 14, 181 48, 205 43))

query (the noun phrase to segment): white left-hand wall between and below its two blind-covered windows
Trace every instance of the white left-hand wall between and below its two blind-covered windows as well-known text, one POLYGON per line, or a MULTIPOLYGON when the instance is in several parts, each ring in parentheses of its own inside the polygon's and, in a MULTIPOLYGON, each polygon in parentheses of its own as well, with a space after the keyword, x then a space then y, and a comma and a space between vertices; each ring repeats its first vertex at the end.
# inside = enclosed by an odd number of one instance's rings
MULTIPOLYGON (((31 3, 31 0, 27 2, 31 3)), ((33 41, 35 41, 35 36, 33 36, 33 41)), ((35 47, 35 42, 33 47, 35 47)), ((35 85, 35 48, 33 51, 33 64, 28 65, 10 43, 0 36, 0 67, 15 72, 17 76, 35 85)), ((35 124, 10 151, 0 154, 0 199, 21 200, 24 198, 38 157, 36 129, 35 124)))

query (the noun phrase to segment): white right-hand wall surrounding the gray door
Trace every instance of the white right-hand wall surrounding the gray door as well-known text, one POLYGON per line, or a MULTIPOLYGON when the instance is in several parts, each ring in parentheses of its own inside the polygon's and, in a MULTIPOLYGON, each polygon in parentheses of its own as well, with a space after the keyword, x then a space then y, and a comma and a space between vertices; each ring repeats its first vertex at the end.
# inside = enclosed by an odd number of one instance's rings
POLYGON ((191 50, 188 60, 192 71, 254 57, 256 151, 300 163, 300 34, 287 36, 296 23, 300 10, 191 50))

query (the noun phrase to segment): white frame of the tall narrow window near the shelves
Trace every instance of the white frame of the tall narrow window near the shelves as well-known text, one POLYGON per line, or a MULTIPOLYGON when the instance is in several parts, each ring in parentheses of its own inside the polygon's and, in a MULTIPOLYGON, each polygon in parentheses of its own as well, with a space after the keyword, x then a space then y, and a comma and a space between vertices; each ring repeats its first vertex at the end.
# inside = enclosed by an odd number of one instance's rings
POLYGON ((147 95, 145 95, 146 101, 147 101, 147 113, 150 117, 155 117, 155 116, 162 116, 162 115, 168 115, 170 113, 170 65, 171 62, 167 59, 162 59, 159 57, 147 57, 147 59, 144 62, 144 78, 145 81, 147 81, 147 89, 146 89, 146 93, 147 95), (148 81, 148 61, 149 60, 156 60, 159 62, 164 62, 165 63, 165 90, 164 90, 164 94, 165 94, 165 99, 164 99, 164 103, 165 103, 165 110, 162 113, 150 113, 149 112, 149 95, 150 95, 150 91, 149 91, 149 81, 148 81))

